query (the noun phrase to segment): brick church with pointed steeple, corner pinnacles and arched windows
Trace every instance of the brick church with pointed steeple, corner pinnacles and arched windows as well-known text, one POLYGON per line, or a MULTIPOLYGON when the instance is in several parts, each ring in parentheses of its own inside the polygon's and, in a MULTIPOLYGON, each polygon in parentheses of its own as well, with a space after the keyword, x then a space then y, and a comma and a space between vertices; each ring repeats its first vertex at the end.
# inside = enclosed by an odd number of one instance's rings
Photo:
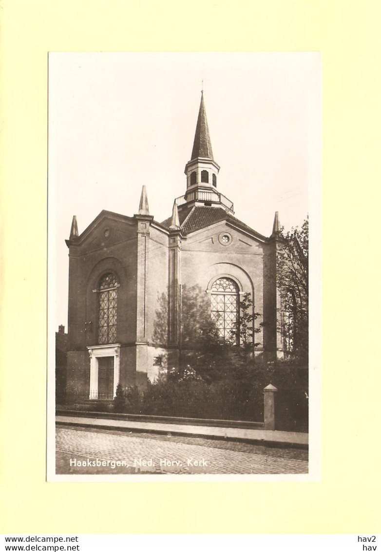
MULTIPOLYGON (((144 186, 135 215, 101 211, 81 234, 73 217, 66 241, 67 397, 112 399, 119 382, 144 388, 175 366, 183 346, 184 286, 201 290, 219 336, 237 346, 240 301, 250 294, 253 314, 260 313, 254 322, 261 325, 253 348, 257 362, 282 356, 277 214, 270 237, 237 219, 233 201, 219 190, 219 169, 201 95, 185 193, 174 200, 168 219, 154 219, 144 186)), ((230 196, 234 183, 223 191, 230 196)))

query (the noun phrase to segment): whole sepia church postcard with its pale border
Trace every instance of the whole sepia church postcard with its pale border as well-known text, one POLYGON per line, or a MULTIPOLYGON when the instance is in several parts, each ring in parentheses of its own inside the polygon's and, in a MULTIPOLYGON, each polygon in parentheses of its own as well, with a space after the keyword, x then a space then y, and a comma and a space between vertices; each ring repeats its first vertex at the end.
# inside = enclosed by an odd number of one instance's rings
POLYGON ((320 63, 49 54, 48 480, 318 478, 320 63))

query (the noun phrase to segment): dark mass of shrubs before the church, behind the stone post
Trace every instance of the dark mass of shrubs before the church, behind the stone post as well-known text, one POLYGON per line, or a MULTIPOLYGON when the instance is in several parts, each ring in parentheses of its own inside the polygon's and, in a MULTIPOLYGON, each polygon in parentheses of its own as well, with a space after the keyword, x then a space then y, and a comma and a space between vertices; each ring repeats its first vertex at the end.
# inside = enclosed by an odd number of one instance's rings
POLYGON ((240 367, 228 378, 208 383, 189 372, 174 374, 123 390, 118 385, 114 411, 152 416, 263 421, 263 389, 276 395, 277 429, 305 431, 308 427, 308 371, 288 362, 240 367), (118 409, 118 410, 117 410, 118 409))

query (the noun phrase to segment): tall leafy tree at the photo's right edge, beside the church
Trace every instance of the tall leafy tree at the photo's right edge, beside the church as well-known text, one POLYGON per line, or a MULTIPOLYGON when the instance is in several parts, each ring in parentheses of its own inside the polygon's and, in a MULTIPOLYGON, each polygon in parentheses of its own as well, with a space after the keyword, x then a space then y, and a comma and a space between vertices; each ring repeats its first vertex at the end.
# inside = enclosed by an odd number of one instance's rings
POLYGON ((280 331, 288 357, 308 360, 308 218, 300 229, 277 235, 277 285, 281 295, 280 331))

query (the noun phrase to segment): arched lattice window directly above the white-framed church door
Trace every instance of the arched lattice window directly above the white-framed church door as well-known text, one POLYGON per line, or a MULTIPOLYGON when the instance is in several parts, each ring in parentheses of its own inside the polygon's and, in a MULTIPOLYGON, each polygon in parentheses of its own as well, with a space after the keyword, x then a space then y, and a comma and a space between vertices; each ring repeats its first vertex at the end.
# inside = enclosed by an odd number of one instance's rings
POLYGON ((116 306, 119 284, 114 274, 105 274, 99 282, 98 343, 116 342, 116 306))

